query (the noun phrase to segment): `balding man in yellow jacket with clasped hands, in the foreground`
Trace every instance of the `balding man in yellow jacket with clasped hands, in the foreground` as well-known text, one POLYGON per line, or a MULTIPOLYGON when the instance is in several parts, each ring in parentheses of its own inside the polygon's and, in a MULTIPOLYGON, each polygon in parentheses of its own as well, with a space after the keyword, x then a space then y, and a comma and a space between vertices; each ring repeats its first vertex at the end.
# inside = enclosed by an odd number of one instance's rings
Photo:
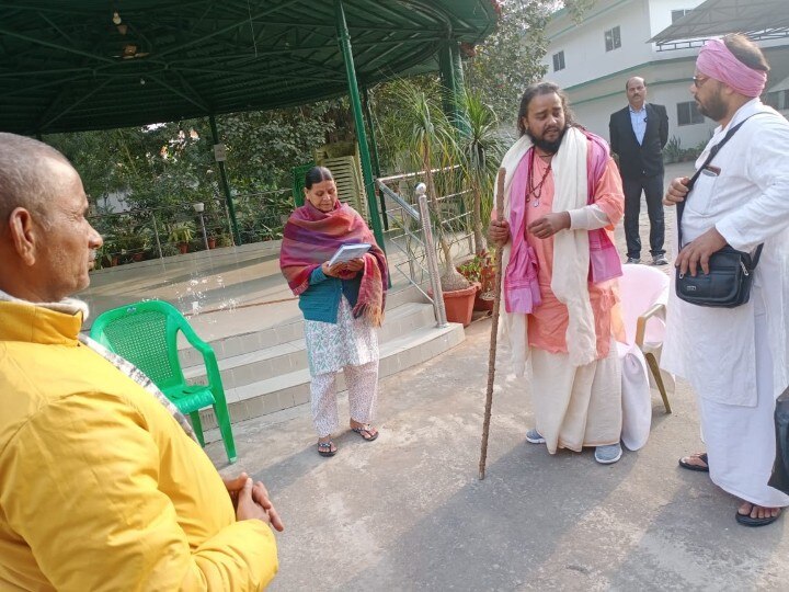
POLYGON ((0 134, 0 590, 261 590, 283 528, 263 483, 222 482, 183 418, 79 339, 87 213, 62 155, 0 134))

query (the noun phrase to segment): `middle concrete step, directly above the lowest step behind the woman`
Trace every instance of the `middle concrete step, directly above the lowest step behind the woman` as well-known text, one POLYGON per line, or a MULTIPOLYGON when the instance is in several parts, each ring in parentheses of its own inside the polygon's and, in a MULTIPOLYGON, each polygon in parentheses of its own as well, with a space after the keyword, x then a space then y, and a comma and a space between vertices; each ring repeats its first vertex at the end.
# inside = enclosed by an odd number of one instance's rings
MULTIPOLYGON (((396 340, 411 331, 435 325, 433 307, 426 304, 407 303, 391 310, 378 331, 379 343, 396 340)), ((302 328, 302 325, 299 325, 302 328)), ((252 345, 254 346, 254 345, 252 345)), ((259 345, 260 346, 260 345, 259 345)), ((224 357, 218 361, 222 385, 226 389, 273 378, 279 374, 307 367, 304 338, 279 343, 248 353, 224 357)), ((205 366, 201 363, 184 369, 192 384, 206 384, 205 366)))

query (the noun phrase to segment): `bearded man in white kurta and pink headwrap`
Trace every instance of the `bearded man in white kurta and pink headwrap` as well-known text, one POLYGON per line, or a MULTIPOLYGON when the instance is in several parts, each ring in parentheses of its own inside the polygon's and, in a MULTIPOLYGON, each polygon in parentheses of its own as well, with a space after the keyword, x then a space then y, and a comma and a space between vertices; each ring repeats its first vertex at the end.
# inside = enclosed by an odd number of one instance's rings
MULTIPOLYGON (((729 129, 747 122, 689 194, 687 178, 671 183, 666 205, 686 200, 677 272, 704 273, 725 243, 764 248, 748 303, 708 308, 672 294, 662 365, 697 394, 710 478, 743 501, 737 522, 761 526, 789 505, 788 496, 767 485, 775 399, 789 385, 789 123, 758 100, 766 61, 743 36, 708 42, 696 66, 690 92, 699 111, 721 124, 697 167, 729 129)), ((699 456, 681 465, 704 468, 699 456)))

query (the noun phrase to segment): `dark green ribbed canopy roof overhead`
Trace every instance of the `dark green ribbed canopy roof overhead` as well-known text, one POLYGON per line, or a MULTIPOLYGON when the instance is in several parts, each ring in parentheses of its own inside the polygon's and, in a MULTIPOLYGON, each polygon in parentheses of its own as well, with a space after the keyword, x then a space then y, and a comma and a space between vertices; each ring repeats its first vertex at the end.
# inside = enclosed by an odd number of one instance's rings
MULTIPOLYGON (((344 0, 361 84, 437 69, 494 0, 344 0)), ((347 92, 331 0, 0 0, 0 129, 101 129, 347 92)))

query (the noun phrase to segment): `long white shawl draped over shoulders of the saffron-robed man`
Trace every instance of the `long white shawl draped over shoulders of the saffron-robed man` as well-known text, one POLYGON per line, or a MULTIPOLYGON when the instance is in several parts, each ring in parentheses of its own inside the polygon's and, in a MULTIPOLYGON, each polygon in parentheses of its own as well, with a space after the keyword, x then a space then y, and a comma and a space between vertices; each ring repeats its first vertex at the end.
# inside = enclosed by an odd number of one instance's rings
MULTIPOLYGON (((504 217, 510 219, 512 204, 512 181, 515 170, 531 147, 527 135, 518 139, 501 166, 506 170, 504 178, 504 217)), ((574 127, 568 128, 551 164, 553 170, 552 212, 569 212, 582 208, 587 202, 586 152, 588 140, 574 127)), ((516 196, 522 198, 523 196, 516 196)), ((514 230, 513 230, 514 231, 514 230)), ((502 270, 510 263, 512 241, 502 251, 502 270)), ((569 323, 565 334, 570 363, 583 366, 597 357, 594 314, 588 296, 588 232, 582 229, 561 230, 553 235, 553 276, 551 291, 557 299, 568 307, 569 323)), ((522 376, 528 360, 528 317, 501 310, 501 338, 510 344, 513 372, 522 376)))

